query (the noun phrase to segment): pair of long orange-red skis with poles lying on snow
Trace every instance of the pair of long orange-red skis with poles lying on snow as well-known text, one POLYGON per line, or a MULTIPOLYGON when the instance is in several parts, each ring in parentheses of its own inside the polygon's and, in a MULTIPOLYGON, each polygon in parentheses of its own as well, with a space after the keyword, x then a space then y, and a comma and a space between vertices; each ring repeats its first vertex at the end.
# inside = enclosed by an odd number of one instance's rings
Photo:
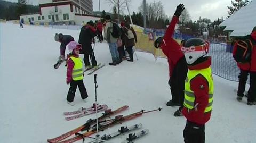
MULTIPOLYGON (((141 110, 139 112, 135 112, 135 113, 132 113, 130 115, 126 115, 126 116, 118 115, 118 116, 115 116, 113 119, 104 120, 107 117, 109 117, 110 115, 114 115, 116 113, 122 112, 122 111, 126 110, 127 108, 128 108, 128 106, 123 106, 123 107, 118 108, 115 111, 111 111, 111 110, 110 110, 110 112, 105 111, 105 113, 103 113, 102 116, 98 117, 98 130, 99 131, 105 130, 105 129, 113 126, 113 125, 120 124, 122 122, 137 118, 137 117, 139 117, 139 116, 141 116, 142 114, 145 114, 145 113, 162 110, 162 108, 158 108, 156 110, 151 110, 151 111, 147 111, 147 112, 145 112, 144 110, 141 110)), ((148 132, 148 131, 145 131, 145 134, 146 134, 146 132, 148 132)), ((67 133, 64 133, 59 137, 48 139, 47 141, 50 142, 50 143, 57 143, 57 142, 59 142, 59 143, 72 143, 72 142, 75 142, 77 140, 81 140, 82 139, 81 136, 90 137, 94 133, 97 133, 96 119, 90 119, 85 124, 81 125, 80 127, 76 128, 74 130, 71 130, 67 133), (80 136, 75 136, 73 138, 64 140, 64 139, 72 136, 73 134, 78 134, 79 131, 86 131, 86 132, 83 133, 83 134, 79 134, 80 136)), ((135 139, 137 137, 130 135, 129 139, 135 139)), ((130 142, 129 140, 127 140, 127 141, 130 142)))

